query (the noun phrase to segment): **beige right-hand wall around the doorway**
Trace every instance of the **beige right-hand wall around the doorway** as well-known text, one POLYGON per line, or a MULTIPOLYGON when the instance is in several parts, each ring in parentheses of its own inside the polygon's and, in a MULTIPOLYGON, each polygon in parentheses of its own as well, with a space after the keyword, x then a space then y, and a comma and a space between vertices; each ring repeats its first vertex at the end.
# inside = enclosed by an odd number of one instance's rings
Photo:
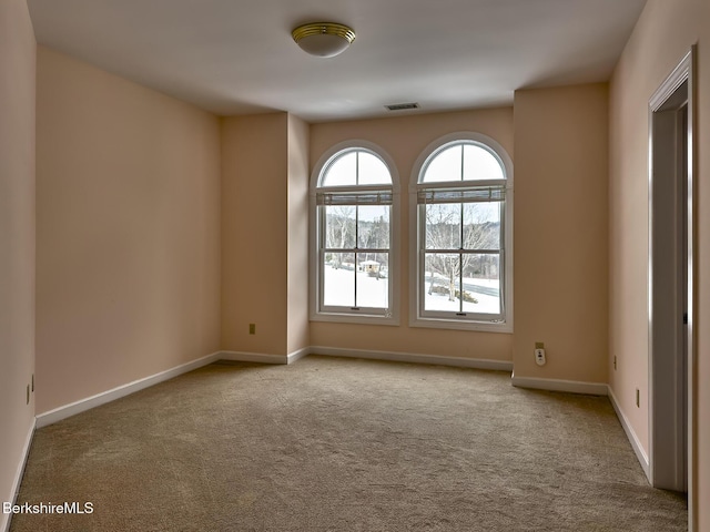
POLYGON ((648 102, 698 44, 696 323, 697 528, 710 530, 710 2, 649 0, 611 80, 610 370, 611 388, 648 452, 648 102), (641 390, 636 408, 635 389, 641 390), (699 503, 698 501, 703 501, 699 503))

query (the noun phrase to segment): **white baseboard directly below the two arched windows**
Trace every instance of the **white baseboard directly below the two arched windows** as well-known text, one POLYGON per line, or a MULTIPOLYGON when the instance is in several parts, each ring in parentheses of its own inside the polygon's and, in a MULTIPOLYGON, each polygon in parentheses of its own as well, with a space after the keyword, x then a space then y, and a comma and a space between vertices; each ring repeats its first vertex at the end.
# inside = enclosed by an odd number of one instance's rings
POLYGON ((455 366, 459 368, 495 369, 513 371, 513 362, 507 360, 485 360, 475 358, 443 357, 440 355, 420 355, 416 352, 372 351, 365 349, 343 349, 339 347, 315 346, 310 348, 313 355, 333 357, 367 358, 373 360, 389 360, 394 362, 432 364, 436 366, 455 366))

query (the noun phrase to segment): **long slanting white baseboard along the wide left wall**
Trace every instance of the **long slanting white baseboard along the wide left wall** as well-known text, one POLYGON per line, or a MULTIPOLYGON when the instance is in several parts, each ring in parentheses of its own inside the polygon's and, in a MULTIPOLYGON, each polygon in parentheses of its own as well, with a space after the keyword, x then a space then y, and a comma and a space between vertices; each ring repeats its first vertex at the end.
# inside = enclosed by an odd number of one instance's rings
POLYGON ((57 421, 61 421, 62 419, 69 418, 77 413, 90 410, 101 405, 105 405, 106 402, 115 401, 116 399, 129 396, 131 393, 135 393, 136 391, 140 391, 144 388, 172 379, 173 377, 178 377, 179 375, 186 374, 187 371, 192 371, 193 369, 201 368, 202 366, 206 366, 207 364, 212 364, 220 358, 219 355, 219 351, 213 352, 212 355, 207 355, 206 357, 202 357, 191 362, 176 366, 172 369, 161 371, 160 374, 151 375, 150 377, 134 380, 133 382, 129 382, 128 385, 119 386, 118 388, 97 393, 95 396, 88 397, 87 399, 81 399, 70 405, 64 405, 63 407, 59 407, 48 412, 40 413, 39 416, 37 416, 37 428, 40 429, 42 427, 47 427, 48 424, 55 423, 57 421))

